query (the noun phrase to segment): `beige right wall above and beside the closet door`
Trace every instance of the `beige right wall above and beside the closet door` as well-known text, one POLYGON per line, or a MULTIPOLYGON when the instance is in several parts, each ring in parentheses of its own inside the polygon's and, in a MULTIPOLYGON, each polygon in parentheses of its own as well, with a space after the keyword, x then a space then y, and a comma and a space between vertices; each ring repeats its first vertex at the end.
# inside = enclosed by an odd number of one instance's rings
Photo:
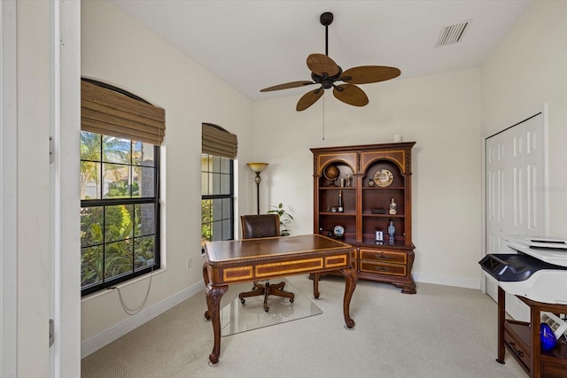
POLYGON ((533 2, 482 65, 482 132, 548 104, 548 228, 567 236, 567 2, 533 2))

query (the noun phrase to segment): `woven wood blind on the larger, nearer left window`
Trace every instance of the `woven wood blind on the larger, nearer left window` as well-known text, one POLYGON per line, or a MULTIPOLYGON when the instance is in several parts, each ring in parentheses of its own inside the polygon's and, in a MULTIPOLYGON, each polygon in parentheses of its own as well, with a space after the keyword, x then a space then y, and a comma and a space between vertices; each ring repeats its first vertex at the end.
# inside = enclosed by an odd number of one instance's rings
POLYGON ((81 129, 159 146, 166 135, 166 112, 82 80, 81 129))

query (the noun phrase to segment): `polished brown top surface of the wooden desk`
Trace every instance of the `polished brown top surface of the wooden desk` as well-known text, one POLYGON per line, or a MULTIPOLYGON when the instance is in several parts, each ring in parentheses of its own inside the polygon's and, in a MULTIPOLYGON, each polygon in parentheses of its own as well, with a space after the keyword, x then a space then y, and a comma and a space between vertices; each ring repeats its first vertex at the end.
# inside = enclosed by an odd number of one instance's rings
POLYGON ((352 251, 349 244, 323 235, 293 235, 260 239, 228 240, 205 244, 206 263, 221 265, 229 262, 260 261, 291 258, 294 255, 352 251))

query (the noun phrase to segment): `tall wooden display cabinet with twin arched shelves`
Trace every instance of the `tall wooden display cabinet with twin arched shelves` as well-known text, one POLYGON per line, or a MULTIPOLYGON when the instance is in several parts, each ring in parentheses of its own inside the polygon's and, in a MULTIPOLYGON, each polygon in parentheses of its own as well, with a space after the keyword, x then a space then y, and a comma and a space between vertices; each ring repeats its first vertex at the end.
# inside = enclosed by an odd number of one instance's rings
POLYGON ((337 237, 333 230, 342 226, 345 234, 340 238, 355 248, 353 264, 358 278, 392 283, 406 294, 416 293, 411 273, 415 258, 411 240, 411 149, 414 144, 311 149, 314 154, 314 232, 337 237), (338 174, 335 177, 333 173, 338 174), (341 179, 345 179, 344 187, 341 179), (338 207, 339 197, 342 197, 343 212, 333 209, 338 207), (397 207, 395 214, 389 213, 392 198, 397 207), (392 241, 388 235, 390 222, 395 227, 392 241), (377 231, 384 235, 382 243, 377 242, 377 231))

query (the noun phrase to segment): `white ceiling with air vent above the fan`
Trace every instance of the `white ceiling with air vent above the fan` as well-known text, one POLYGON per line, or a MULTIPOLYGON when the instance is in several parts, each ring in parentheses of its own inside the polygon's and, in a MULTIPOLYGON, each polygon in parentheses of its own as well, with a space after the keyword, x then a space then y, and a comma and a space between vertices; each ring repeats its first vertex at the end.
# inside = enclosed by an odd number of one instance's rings
POLYGON ((334 14, 329 27, 329 56, 339 66, 344 70, 396 66, 403 78, 480 66, 530 1, 111 3, 256 101, 306 92, 299 88, 260 93, 260 89, 311 80, 307 55, 325 53, 325 27, 319 21, 322 12, 334 14), (435 48, 444 27, 469 19, 461 42, 435 48))

